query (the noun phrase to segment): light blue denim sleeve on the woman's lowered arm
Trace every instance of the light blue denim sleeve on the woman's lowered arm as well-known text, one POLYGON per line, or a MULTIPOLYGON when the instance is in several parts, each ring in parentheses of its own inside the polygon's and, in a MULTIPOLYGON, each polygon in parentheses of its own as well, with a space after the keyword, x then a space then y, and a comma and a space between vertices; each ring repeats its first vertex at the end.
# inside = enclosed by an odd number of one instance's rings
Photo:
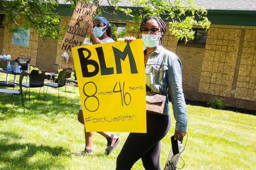
POLYGON ((167 82, 170 90, 172 109, 176 120, 175 130, 187 130, 187 107, 182 91, 181 61, 178 57, 172 60, 172 64, 167 71, 167 82))

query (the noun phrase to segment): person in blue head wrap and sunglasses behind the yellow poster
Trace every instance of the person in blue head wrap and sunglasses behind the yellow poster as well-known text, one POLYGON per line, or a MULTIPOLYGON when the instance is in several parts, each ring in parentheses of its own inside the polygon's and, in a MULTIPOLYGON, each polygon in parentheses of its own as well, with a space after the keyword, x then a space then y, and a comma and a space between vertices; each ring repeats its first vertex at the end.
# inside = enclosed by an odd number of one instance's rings
MULTIPOLYGON (((109 21, 104 17, 96 17, 93 21, 89 20, 87 23, 88 33, 91 36, 94 44, 101 43, 111 43, 114 40, 111 38, 111 26, 109 21)), ((82 111, 82 106, 80 106, 79 112, 77 114, 77 119, 80 123, 84 124, 84 116, 82 111)), ((85 129, 84 129, 85 130, 85 129)), ((111 151, 116 147, 119 138, 111 134, 110 132, 97 132, 104 136, 108 142, 105 154, 111 153, 111 151)), ((85 130, 85 149, 82 152, 78 152, 75 155, 91 155, 92 152, 92 142, 93 142, 93 132, 86 132, 85 130)))

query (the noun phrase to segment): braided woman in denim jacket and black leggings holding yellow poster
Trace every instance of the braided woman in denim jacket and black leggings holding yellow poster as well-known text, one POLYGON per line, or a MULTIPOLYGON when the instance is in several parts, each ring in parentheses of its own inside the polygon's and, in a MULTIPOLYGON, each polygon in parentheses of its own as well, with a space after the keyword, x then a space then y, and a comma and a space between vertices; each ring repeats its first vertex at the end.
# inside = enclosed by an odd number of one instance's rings
MULTIPOLYGON (((130 133, 117 157, 116 170, 131 169, 140 158, 145 169, 160 169, 161 139, 171 125, 168 106, 170 90, 172 109, 176 120, 174 137, 183 140, 187 130, 187 108, 182 92, 181 61, 179 57, 162 47, 166 33, 165 22, 160 17, 148 17, 140 26, 144 51, 146 85, 159 95, 166 96, 162 114, 147 111, 147 133, 130 133)), ((133 37, 125 37, 129 43, 133 37)))

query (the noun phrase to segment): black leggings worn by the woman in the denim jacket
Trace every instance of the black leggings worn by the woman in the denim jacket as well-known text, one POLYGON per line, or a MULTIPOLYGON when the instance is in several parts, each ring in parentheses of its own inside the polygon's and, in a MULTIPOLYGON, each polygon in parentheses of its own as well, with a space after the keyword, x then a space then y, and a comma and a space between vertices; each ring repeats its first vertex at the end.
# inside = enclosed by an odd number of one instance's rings
POLYGON ((131 169, 141 158, 146 170, 160 169, 161 139, 168 133, 169 115, 147 113, 147 133, 130 133, 116 160, 116 170, 131 169))

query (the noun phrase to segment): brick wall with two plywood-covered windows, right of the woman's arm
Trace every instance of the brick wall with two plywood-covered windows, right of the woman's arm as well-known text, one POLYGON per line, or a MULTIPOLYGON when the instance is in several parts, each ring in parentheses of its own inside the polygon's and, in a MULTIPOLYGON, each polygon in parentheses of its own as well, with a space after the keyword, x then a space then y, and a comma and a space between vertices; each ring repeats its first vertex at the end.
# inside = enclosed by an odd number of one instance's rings
POLYGON ((223 98, 229 106, 256 110, 255 36, 256 30, 213 26, 205 49, 177 46, 185 98, 223 98))

